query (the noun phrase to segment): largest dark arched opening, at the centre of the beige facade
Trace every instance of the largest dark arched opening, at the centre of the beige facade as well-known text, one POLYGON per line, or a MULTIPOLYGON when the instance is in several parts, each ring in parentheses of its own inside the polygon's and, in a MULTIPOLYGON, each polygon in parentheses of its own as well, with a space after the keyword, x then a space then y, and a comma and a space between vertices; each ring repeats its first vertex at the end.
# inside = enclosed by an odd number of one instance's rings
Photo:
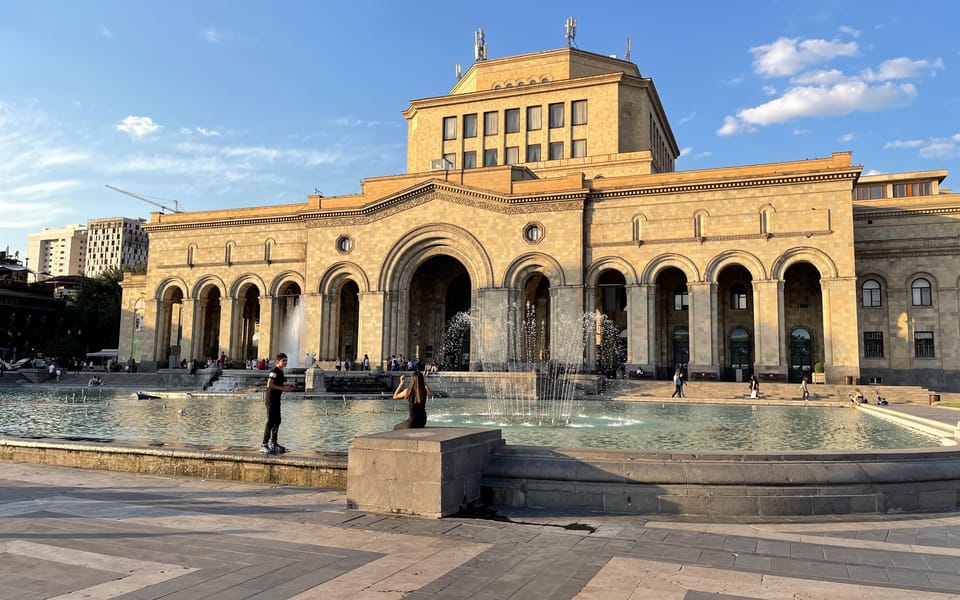
POLYGON ((470 274, 457 259, 433 256, 417 267, 410 280, 406 357, 438 362, 448 371, 469 370, 472 298, 470 274), (456 333, 448 332, 454 327, 456 333))

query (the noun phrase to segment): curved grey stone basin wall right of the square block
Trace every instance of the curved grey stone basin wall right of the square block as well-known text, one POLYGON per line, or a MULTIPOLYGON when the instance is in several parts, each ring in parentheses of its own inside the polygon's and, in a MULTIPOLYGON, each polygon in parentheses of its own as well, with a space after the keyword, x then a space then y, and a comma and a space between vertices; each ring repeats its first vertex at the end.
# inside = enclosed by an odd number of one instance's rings
POLYGON ((960 451, 670 453, 506 446, 494 505, 603 513, 786 516, 960 507, 960 451))

